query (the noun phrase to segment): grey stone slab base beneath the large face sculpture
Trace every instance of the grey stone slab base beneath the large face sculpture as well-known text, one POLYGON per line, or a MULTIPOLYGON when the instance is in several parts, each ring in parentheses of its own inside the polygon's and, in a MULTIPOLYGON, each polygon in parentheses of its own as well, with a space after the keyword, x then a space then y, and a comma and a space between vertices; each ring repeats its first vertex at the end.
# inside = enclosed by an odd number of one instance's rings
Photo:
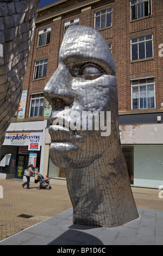
POLYGON ((73 224, 72 208, 33 225, 0 245, 163 245, 163 211, 137 208, 139 218, 120 227, 97 228, 73 224))

